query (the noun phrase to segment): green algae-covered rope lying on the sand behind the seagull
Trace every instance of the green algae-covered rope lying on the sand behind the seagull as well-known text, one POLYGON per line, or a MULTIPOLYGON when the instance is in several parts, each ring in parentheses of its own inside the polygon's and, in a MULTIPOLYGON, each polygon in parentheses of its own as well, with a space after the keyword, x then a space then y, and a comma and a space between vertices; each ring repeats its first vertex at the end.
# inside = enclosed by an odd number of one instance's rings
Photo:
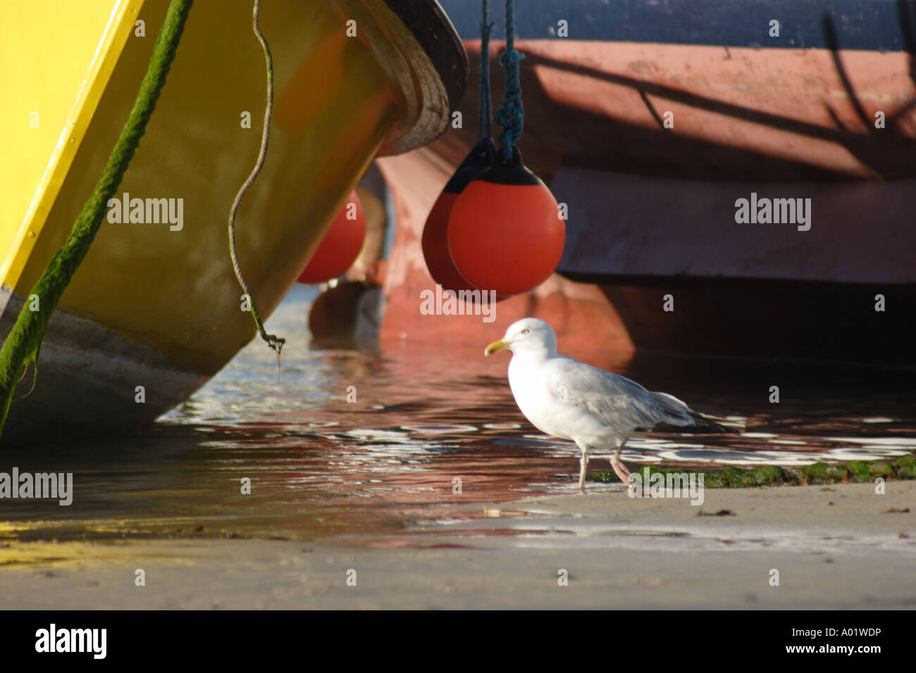
MULTIPOLYGON (((639 472, 652 474, 682 474, 695 472, 684 468, 659 468, 651 465, 642 466, 639 472)), ((703 486, 706 488, 745 488, 748 486, 770 486, 775 484, 806 485, 818 483, 866 483, 878 477, 884 479, 916 479, 916 456, 900 456, 895 462, 890 461, 852 461, 846 464, 828 464, 815 462, 812 465, 780 467, 764 465, 763 467, 745 470, 729 466, 721 472, 704 472, 703 486)), ((594 472, 588 475, 591 482, 620 483, 617 475, 610 471, 594 472)))

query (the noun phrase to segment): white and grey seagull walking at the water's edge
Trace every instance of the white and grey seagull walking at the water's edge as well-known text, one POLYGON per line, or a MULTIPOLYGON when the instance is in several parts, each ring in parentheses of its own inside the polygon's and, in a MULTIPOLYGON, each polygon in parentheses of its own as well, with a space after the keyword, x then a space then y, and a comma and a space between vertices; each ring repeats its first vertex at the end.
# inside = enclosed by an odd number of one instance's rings
POLYGON ((631 437, 653 430, 694 429, 701 432, 739 431, 693 411, 668 393, 651 393, 626 376, 605 372, 557 354, 557 337, 551 326, 537 318, 509 325, 506 334, 489 344, 484 355, 508 349, 509 387, 525 418, 541 432, 573 440, 579 461, 579 490, 585 490, 588 450, 614 449, 611 467, 623 483, 629 471, 620 451, 631 437))

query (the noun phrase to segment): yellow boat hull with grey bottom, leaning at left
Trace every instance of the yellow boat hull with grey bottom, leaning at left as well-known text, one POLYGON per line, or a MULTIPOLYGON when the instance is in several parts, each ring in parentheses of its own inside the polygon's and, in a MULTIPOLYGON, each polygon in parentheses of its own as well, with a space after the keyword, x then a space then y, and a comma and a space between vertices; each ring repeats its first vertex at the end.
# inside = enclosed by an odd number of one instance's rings
MULTIPOLYGON (((0 5, 0 335, 93 190, 168 5, 0 5)), ((275 107, 236 240, 267 316, 372 159, 442 133, 467 60, 433 0, 272 0, 260 26, 275 107)), ((116 223, 109 213, 50 321, 34 390, 11 407, 5 442, 147 423, 253 337, 226 221, 257 157, 265 90, 251 3, 195 3, 119 189, 131 213, 141 200, 133 219, 145 221, 116 223), (164 222, 157 209, 167 205, 173 218, 164 222)), ((16 396, 31 384, 30 372, 16 396)))

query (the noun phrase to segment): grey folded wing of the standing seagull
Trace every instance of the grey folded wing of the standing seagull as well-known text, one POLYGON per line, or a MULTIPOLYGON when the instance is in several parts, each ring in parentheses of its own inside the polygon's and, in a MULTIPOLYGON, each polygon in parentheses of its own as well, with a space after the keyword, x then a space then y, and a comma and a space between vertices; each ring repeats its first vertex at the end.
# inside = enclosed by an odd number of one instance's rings
POLYGON ((618 433, 649 432, 659 425, 696 423, 691 408, 676 397, 651 393, 626 376, 605 372, 591 364, 561 356, 554 361, 551 374, 551 387, 557 396, 583 408, 618 433))

